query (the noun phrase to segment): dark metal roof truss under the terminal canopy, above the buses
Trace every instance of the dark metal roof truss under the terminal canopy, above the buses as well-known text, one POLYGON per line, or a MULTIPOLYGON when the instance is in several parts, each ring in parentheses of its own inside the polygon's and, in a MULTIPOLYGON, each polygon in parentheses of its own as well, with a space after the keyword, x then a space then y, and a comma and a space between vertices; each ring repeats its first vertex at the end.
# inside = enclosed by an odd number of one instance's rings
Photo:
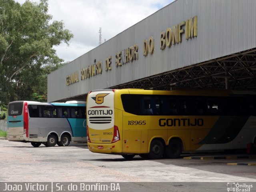
MULTIPOLYGON (((256 90, 256 48, 109 87, 173 90, 177 88, 256 90)), ((66 100, 84 100, 80 95, 66 100)))

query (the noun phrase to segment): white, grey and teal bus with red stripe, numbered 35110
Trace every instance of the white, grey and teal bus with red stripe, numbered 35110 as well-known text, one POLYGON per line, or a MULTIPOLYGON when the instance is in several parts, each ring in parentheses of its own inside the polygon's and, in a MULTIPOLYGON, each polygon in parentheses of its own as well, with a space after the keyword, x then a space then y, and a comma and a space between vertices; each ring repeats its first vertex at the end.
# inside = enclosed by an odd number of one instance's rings
POLYGON ((31 142, 34 147, 86 142, 86 104, 10 102, 7 126, 9 141, 31 142))

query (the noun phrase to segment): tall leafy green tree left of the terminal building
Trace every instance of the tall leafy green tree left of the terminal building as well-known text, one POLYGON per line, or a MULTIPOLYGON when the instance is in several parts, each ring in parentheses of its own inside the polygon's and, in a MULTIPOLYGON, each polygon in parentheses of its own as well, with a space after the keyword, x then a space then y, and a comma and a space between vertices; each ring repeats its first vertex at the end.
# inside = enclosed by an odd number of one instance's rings
POLYGON ((0 101, 47 94, 47 74, 63 62, 54 47, 73 37, 47 12, 48 0, 0 0, 0 101))

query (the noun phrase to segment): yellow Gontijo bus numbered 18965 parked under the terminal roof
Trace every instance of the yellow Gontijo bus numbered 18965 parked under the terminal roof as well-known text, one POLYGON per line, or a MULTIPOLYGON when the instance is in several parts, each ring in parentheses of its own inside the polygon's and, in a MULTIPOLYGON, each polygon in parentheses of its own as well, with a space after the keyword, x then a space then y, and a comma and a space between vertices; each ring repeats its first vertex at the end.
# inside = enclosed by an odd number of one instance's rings
POLYGON ((229 90, 94 90, 87 97, 92 152, 159 159, 256 144, 256 94, 229 90))

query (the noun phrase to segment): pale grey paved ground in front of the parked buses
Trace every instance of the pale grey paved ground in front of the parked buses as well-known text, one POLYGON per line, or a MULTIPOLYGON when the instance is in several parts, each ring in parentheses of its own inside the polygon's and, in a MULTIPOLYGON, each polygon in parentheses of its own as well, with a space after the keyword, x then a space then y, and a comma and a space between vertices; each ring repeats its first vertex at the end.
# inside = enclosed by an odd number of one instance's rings
POLYGON ((0 140, 0 161, 0 190, 4 182, 66 182, 66 190, 70 182, 121 182, 125 189, 121 191, 215 192, 226 191, 227 182, 253 182, 256 191, 256 166, 227 165, 255 162, 249 158, 126 160, 92 153, 84 144, 34 148, 30 143, 0 140))

